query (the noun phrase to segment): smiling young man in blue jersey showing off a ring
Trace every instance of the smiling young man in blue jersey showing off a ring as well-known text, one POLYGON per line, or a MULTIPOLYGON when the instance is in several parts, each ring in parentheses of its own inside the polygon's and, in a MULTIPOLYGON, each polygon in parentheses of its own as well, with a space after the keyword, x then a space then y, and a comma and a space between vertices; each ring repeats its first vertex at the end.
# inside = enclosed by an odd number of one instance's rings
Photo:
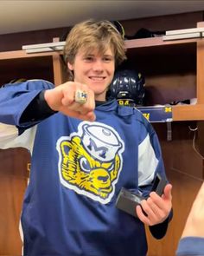
POLYGON ((124 40, 112 23, 89 20, 73 27, 64 56, 73 81, 57 87, 28 81, 0 91, 0 121, 21 136, 26 130, 32 154, 24 254, 144 256, 144 224, 157 239, 166 233, 171 185, 162 197, 150 193, 156 174, 165 178, 150 123, 135 108, 105 102, 115 67, 125 59, 124 40), (138 218, 115 207, 122 187, 150 193, 143 210, 136 208, 138 218))

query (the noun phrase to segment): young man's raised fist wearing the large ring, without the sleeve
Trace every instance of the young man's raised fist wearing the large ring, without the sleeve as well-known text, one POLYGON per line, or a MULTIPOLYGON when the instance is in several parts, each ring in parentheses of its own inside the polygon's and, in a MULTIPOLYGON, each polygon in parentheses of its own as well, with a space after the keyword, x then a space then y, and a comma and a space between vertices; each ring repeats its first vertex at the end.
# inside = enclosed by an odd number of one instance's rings
POLYGON ((65 82, 54 89, 45 91, 45 100, 54 111, 60 111, 64 115, 79 118, 81 120, 94 121, 95 108, 94 93, 86 84, 80 82, 65 82), (75 92, 85 91, 87 101, 85 103, 75 102, 75 92))

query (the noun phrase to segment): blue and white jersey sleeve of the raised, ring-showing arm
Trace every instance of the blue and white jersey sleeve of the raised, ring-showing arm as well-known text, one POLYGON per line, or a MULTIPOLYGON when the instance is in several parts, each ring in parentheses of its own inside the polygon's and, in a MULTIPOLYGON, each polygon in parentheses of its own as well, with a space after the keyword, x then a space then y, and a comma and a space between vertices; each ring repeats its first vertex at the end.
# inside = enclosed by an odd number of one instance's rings
MULTIPOLYGON (((28 121, 21 122, 21 117, 23 113, 27 112, 27 109, 29 109, 30 116, 33 116, 36 109, 30 108, 31 102, 45 89, 53 88, 54 85, 45 80, 28 80, 16 84, 8 83, 3 85, 3 88, 0 89, 1 149, 22 147, 32 151, 36 124, 39 120, 30 118, 28 121)), ((39 109, 43 111, 43 108, 39 109)))

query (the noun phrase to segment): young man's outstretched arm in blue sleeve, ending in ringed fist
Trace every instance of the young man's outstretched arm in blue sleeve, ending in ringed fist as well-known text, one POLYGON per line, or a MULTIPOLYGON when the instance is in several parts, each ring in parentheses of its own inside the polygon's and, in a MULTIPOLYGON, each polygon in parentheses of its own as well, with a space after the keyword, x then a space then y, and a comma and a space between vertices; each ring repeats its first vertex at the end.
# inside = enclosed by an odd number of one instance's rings
POLYGON ((93 113, 95 108, 94 93, 85 84, 79 82, 65 82, 54 87, 51 82, 44 80, 29 80, 17 85, 8 84, 0 90, 0 122, 6 124, 29 128, 49 115, 54 114, 55 111, 60 111, 65 115, 82 120, 95 120, 93 113), (75 93, 78 90, 86 92, 87 101, 83 104, 75 101, 75 93), (43 99, 50 109, 44 108, 46 107, 44 104, 43 108, 35 108, 36 99, 39 99, 39 95, 42 92, 43 99), (33 116, 32 112, 35 113, 37 111, 39 113, 33 116), (40 118, 35 120, 35 117, 40 118))

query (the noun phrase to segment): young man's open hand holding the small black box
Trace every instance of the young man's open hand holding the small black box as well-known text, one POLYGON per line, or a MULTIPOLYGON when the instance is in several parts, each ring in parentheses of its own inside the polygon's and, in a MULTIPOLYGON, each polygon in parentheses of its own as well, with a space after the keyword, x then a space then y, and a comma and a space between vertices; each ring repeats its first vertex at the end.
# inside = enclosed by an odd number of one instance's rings
POLYGON ((162 196, 159 196, 156 192, 151 192, 147 200, 142 200, 141 207, 136 207, 139 220, 149 226, 162 223, 166 220, 172 208, 171 189, 172 186, 167 184, 164 187, 162 196))

